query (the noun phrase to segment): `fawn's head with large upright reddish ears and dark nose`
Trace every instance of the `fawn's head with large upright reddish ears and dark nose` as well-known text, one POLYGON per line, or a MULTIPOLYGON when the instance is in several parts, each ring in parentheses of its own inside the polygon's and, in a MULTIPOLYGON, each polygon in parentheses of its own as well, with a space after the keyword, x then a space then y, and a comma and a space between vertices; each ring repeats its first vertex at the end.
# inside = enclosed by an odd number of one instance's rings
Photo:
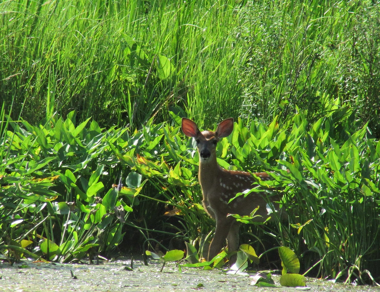
MULTIPOLYGON (((198 148, 199 159, 207 161, 207 159, 215 157, 215 149, 218 141, 227 137, 232 133, 234 128, 234 119, 228 118, 220 122, 215 132, 199 131, 198 126, 188 118, 182 118, 182 131, 186 136, 193 137, 198 148)), ((216 159, 216 157, 215 157, 216 159)))

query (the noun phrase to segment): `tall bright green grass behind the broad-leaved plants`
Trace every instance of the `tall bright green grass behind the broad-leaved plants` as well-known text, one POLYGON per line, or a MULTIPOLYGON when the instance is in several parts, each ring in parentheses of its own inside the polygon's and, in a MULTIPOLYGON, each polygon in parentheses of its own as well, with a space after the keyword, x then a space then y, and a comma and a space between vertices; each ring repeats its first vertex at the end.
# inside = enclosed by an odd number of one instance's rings
POLYGON ((349 105, 378 135, 375 1, 5 1, 1 95, 37 122, 140 126, 168 108, 201 123, 317 119, 349 105))

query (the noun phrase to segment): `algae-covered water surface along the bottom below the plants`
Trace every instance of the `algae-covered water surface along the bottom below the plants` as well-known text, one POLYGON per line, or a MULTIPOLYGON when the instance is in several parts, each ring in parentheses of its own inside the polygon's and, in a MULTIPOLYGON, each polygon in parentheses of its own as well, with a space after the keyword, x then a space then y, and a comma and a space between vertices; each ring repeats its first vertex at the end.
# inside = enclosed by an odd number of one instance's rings
MULTIPOLYGON (((22 260, 17 264, 0 264, 0 291, 47 292, 170 292, 170 291, 296 291, 296 288, 258 288, 251 286, 248 276, 228 275, 220 270, 182 268, 166 264, 160 272, 161 262, 152 260, 145 266, 140 260, 89 264, 54 264, 22 260), (71 271, 74 277, 71 275, 71 271), (75 279, 76 278, 76 279, 75 279)), ((279 276, 272 276, 280 286, 279 276)), ((308 291, 380 292, 380 287, 349 286, 308 278, 308 291)))

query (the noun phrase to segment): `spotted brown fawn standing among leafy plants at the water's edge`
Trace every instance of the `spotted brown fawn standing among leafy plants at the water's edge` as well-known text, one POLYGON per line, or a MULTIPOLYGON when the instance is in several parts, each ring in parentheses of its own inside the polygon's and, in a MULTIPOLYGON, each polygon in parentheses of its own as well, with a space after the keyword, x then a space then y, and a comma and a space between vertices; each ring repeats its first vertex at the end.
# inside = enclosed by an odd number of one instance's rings
MULTIPOLYGON (((262 217, 256 217, 256 221, 264 221, 269 217, 267 201, 258 193, 249 194, 247 197, 239 196, 228 204, 237 193, 251 189, 255 182, 249 172, 226 170, 217 164, 216 145, 220 139, 232 133, 233 126, 233 118, 228 118, 218 125, 215 132, 200 132, 196 123, 188 118, 182 118, 182 131, 186 136, 195 138, 198 148, 198 180, 203 193, 203 207, 216 221, 215 235, 209 247, 207 260, 212 260, 220 252, 225 246, 226 239, 230 252, 237 251, 239 248, 240 224, 236 219, 227 217, 228 214, 249 215, 257 206, 260 206, 256 215, 262 217)), ((262 180, 269 179, 265 172, 258 172, 255 175, 262 180)), ((278 201, 277 197, 271 197, 271 199, 278 201)), ((278 209, 278 204, 273 206, 278 209)), ((235 260, 236 256, 232 256, 230 262, 235 260)))

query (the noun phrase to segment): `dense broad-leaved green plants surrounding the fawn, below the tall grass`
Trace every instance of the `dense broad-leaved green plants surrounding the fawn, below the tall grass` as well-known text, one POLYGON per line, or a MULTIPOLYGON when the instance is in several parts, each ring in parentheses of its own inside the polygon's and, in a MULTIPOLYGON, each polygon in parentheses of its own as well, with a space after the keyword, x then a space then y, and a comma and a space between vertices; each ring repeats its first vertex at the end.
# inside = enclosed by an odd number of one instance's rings
MULTIPOLYGON (((94 121, 76 126, 74 112, 46 125, 9 122, 13 130, 3 131, 0 149, 2 250, 17 258, 17 247, 28 246, 68 261, 112 251, 128 230, 125 237, 140 247, 144 239, 169 246, 169 235, 202 252, 212 221, 200 205, 198 156, 172 117, 172 125, 148 123, 133 134, 94 121)), ((304 270, 315 265, 318 275, 334 278, 374 273, 380 146, 367 134, 352 128, 348 108, 310 128, 301 114, 282 126, 274 120, 247 129, 239 120, 218 148, 219 163, 273 177, 252 191, 280 192, 290 225, 278 221, 266 234, 293 248, 304 270)))

